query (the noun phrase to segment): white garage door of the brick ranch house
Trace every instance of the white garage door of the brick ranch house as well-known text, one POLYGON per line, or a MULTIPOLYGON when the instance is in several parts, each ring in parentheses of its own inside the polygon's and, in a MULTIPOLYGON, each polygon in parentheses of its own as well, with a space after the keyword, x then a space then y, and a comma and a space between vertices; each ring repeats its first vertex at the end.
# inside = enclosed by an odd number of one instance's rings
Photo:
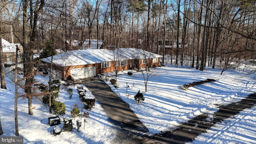
POLYGON ((94 66, 86 68, 75 68, 72 69, 70 73, 71 77, 74 78, 74 80, 81 78, 89 78, 96 76, 96 68, 94 66))

